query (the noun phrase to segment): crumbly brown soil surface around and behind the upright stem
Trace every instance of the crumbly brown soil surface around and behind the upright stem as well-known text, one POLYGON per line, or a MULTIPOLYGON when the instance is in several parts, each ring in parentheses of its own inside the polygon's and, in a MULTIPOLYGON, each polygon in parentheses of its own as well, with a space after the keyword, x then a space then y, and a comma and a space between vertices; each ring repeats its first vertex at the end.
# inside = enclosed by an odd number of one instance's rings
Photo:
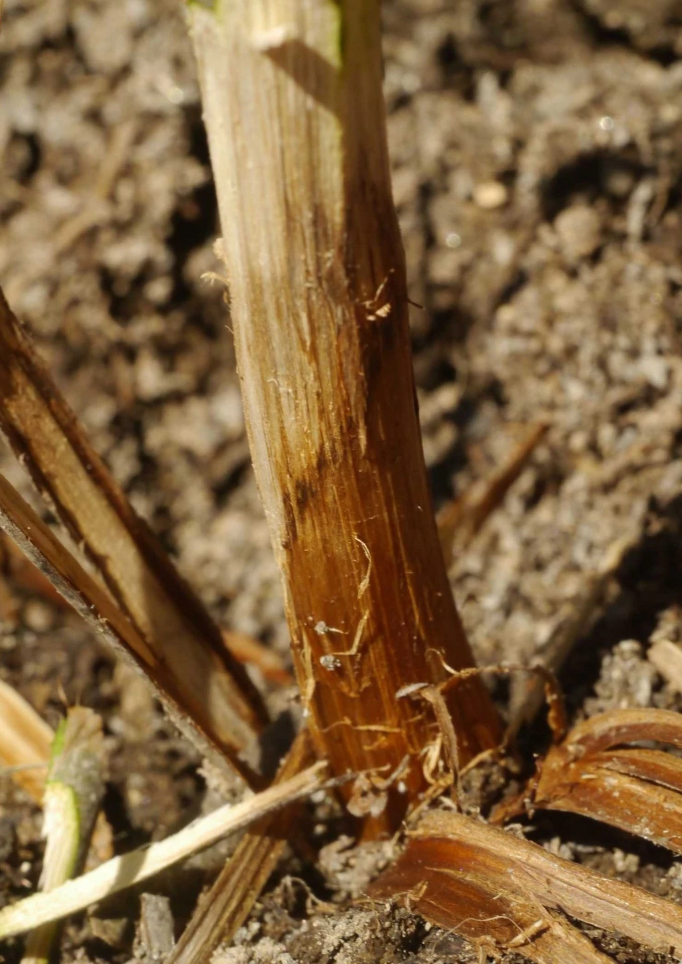
MULTIPOLYGON (((682 6, 385 0, 383 12, 436 507, 550 425, 504 506, 451 560, 477 657, 528 662, 568 634, 573 719, 680 710, 647 650, 682 644, 682 6)), ((7 298, 218 621, 287 661, 227 308, 202 277, 219 270, 219 228, 181 5, 5 0, 0 78, 7 298)), ((5 447, 0 470, 39 504, 5 447)), ((0 588, 0 677, 53 725, 65 704, 104 718, 117 850, 196 816, 200 761, 145 686, 64 608, 11 575, 0 588)), ((503 711, 518 695, 502 682, 495 694, 503 711)), ((40 824, 0 774, 3 900, 36 886, 40 824)), ((558 816, 538 818, 534 838, 682 899, 679 867, 653 846, 558 816)), ((327 857, 325 879, 305 884, 289 858, 216 961, 477 959, 402 910, 322 913, 315 897, 342 906, 386 859, 338 846, 327 857)), ((177 930, 210 873, 195 862, 148 886, 171 897, 177 930)), ((151 959, 134 940, 139 907, 128 894, 68 924, 62 960, 151 959)), ((614 960, 665 959, 590 934, 614 960)), ((2 952, 18 961, 20 943, 2 952)))

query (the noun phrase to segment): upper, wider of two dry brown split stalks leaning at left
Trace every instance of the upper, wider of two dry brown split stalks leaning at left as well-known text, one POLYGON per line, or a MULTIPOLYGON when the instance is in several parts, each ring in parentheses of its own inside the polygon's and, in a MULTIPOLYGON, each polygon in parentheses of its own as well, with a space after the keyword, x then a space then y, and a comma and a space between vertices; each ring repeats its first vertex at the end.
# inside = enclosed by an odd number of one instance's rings
POLYGON ((160 693, 175 699, 180 723, 232 761, 253 750, 264 719, 257 690, 87 442, 2 294, 0 427, 144 641, 148 673, 162 662, 170 680, 160 693))

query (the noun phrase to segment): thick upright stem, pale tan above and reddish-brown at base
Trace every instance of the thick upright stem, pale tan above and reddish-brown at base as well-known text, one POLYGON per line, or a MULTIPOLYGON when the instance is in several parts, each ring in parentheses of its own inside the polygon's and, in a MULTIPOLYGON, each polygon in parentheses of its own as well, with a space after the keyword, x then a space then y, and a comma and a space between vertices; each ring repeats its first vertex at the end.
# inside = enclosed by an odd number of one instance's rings
MULTIPOLYGON (((377 0, 189 8, 260 495, 296 671, 335 772, 408 758, 431 711, 396 700, 472 656, 423 467, 377 0)), ((466 762, 498 726, 450 700, 466 762)), ((404 798, 403 798, 404 799, 404 798)), ((396 813, 401 809, 394 799, 396 813)))

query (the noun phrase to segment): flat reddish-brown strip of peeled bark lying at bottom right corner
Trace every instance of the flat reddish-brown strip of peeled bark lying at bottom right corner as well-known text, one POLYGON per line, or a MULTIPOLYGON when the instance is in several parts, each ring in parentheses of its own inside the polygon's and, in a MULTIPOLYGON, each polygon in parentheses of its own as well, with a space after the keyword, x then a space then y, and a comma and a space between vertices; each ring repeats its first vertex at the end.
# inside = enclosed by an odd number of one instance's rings
POLYGON ((490 953, 517 950, 542 964, 608 960, 563 914, 682 957, 676 905, 460 814, 425 817, 370 893, 399 896, 490 953))

